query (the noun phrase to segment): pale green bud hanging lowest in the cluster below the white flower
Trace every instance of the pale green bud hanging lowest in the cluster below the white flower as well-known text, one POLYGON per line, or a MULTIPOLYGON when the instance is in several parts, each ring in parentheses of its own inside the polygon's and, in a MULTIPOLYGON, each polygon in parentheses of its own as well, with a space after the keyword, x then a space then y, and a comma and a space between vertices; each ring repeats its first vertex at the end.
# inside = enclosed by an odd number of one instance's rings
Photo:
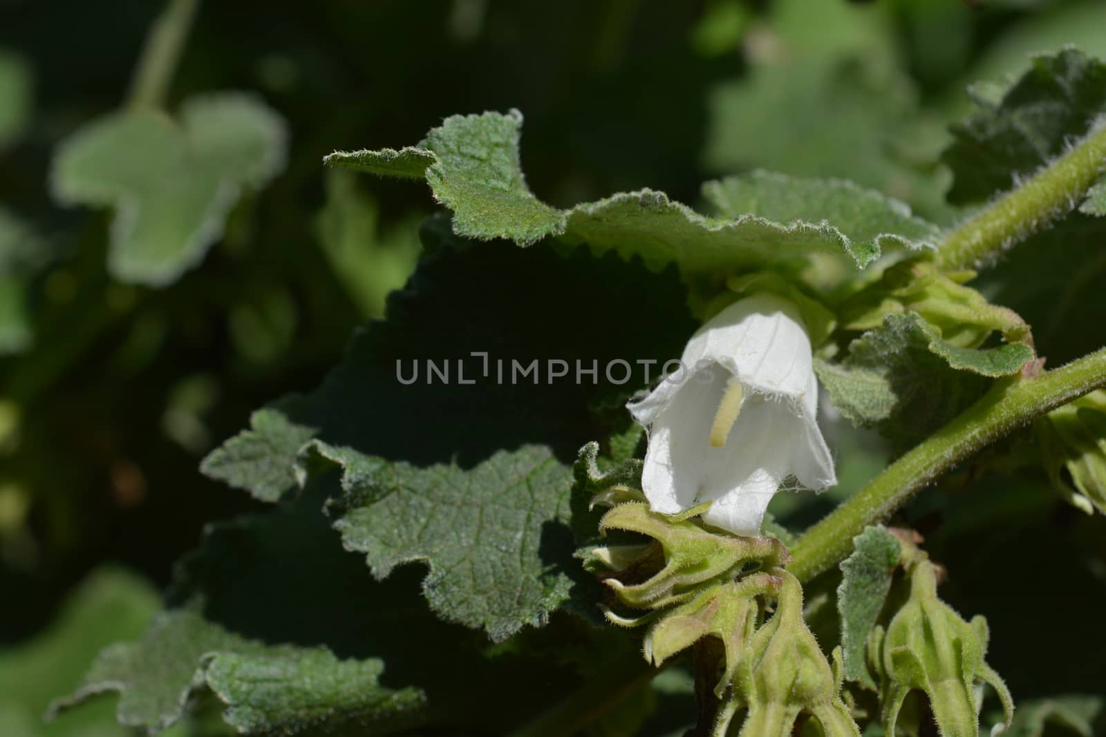
MULTIPOLYGON (((741 737, 787 737, 801 714, 816 719, 825 737, 859 737, 841 698, 841 649, 831 667, 803 621, 803 589, 781 571, 775 615, 753 635, 737 668, 735 695, 722 718, 745 708, 741 737)), ((716 734, 724 734, 724 725, 716 734)))

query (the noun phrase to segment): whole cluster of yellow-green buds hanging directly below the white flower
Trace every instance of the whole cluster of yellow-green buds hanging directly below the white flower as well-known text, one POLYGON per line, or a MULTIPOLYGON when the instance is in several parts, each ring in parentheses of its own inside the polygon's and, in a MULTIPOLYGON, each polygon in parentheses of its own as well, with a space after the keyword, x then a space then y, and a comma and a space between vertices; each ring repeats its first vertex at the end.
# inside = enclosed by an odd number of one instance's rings
POLYGON ((803 590, 783 568, 782 543, 714 534, 689 518, 697 509, 661 515, 633 501, 629 489, 608 489, 598 499, 615 504, 599 523, 604 534, 653 538, 645 546, 589 551, 587 564, 604 569, 617 604, 644 610, 627 618, 607 609, 607 618, 624 627, 649 625, 645 656, 657 665, 703 638, 722 643, 712 735, 728 734, 743 713, 742 737, 785 737, 804 714, 827 737, 859 736, 841 698, 839 652, 831 666, 803 621, 803 590), (766 617, 770 601, 774 613, 766 617))

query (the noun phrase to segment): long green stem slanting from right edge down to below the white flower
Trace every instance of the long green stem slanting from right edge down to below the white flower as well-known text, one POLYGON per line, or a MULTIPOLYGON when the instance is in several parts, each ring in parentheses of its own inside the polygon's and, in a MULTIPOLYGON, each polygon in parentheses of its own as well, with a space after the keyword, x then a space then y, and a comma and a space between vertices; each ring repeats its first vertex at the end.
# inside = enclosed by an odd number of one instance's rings
POLYGON ((845 558, 853 537, 886 519, 922 486, 1036 417, 1106 386, 1106 348, 1036 378, 997 381, 990 391, 808 529, 787 570, 806 581, 845 558))

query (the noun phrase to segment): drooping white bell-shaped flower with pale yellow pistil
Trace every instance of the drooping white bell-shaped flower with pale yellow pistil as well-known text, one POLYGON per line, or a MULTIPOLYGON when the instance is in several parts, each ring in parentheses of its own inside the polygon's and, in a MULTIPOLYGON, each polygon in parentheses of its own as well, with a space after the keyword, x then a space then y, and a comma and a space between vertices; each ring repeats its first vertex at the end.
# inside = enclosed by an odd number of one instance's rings
POLYGON ((837 483, 815 419, 811 340, 792 303, 770 294, 733 303, 680 360, 680 371, 627 404, 649 430, 641 486, 654 509, 711 501, 708 524, 757 536, 784 478, 814 489, 837 483))

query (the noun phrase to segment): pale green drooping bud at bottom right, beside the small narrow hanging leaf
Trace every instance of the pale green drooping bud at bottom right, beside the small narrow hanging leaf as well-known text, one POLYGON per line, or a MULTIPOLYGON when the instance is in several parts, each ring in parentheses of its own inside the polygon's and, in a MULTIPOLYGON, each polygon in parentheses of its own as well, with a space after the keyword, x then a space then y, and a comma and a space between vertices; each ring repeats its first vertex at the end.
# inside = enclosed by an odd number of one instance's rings
POLYGON ((1004 725, 1010 726, 1013 702, 1002 678, 985 663, 987 620, 971 623, 937 598, 933 564, 918 560, 910 572, 910 598, 895 614, 886 634, 877 629, 869 641, 874 656, 881 659, 884 729, 895 734, 895 723, 907 694, 924 691, 942 737, 977 737, 978 682, 994 687, 1002 702, 1004 725), (881 655, 880 655, 881 652, 881 655))

